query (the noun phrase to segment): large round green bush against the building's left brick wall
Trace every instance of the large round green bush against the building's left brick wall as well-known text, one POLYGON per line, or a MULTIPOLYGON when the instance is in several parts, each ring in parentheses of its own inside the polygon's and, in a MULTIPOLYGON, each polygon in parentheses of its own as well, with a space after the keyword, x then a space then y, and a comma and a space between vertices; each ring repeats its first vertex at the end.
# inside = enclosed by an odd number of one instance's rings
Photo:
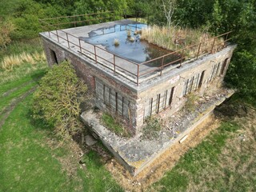
POLYGON ((34 92, 33 117, 54 127, 54 133, 63 140, 69 139, 83 128, 79 114, 86 90, 70 62, 53 66, 34 92))

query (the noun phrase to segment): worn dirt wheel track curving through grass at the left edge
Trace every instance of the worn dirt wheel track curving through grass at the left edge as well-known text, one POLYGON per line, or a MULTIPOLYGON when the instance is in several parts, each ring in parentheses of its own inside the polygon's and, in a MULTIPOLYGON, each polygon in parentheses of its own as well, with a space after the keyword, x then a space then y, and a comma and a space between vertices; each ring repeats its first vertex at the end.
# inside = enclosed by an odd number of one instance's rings
MULTIPOLYGON (((24 84, 22 84, 22 86, 24 86, 24 84)), ((36 89, 36 87, 37 86, 34 86, 32 89, 27 90, 24 94, 22 94, 18 98, 12 99, 10 104, 8 106, 6 106, 6 108, 4 110, 2 110, 2 113, 0 113, 0 116, 3 114, 2 118, 0 118, 0 130, 1 130, 2 126, 3 126, 3 124, 6 122, 6 118, 8 118, 10 113, 14 110, 15 106, 17 106, 19 102, 22 102, 22 100, 24 98, 26 98, 26 96, 28 96, 29 94, 33 93, 34 90, 36 89)), ((17 87, 15 87, 15 88, 17 88, 17 87)), ((14 89, 12 89, 12 90, 14 91, 14 89)), ((10 94, 11 92, 9 92, 9 91, 10 90, 8 90, 6 93, 10 94)))

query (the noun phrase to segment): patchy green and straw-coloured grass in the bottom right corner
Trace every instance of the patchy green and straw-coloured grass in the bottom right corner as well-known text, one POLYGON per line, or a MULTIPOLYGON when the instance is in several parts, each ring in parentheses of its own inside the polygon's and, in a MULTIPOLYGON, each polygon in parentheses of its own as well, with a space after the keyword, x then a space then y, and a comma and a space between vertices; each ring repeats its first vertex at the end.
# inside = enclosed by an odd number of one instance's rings
MULTIPOLYGON (((248 149, 242 153, 238 151, 241 129, 242 127, 236 122, 223 122, 218 130, 207 136, 197 147, 190 149, 177 165, 168 171, 159 182, 154 183, 150 189, 157 191, 255 191, 256 177, 252 173, 256 172, 256 166, 254 166, 256 157, 254 149, 248 149), (238 142, 230 143, 233 141, 238 142), (253 155, 252 158, 250 154, 253 155), (239 161, 241 162, 238 165, 239 161), (250 171, 248 170, 245 174, 242 171, 243 167, 247 167, 250 171)), ((252 134, 255 131, 253 130, 252 134)), ((255 141, 244 143, 245 147, 253 144, 255 141)))

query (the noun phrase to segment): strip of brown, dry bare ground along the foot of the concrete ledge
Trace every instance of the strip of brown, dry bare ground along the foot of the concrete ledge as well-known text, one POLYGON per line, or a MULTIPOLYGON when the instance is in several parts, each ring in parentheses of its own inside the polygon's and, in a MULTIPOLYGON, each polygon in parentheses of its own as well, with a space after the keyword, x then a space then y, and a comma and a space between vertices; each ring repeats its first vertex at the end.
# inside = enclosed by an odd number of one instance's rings
POLYGON ((182 142, 182 144, 179 142, 175 143, 169 150, 166 150, 164 154, 158 157, 152 166, 147 167, 136 177, 131 176, 114 159, 106 163, 106 169, 113 174, 115 180, 126 190, 145 191, 148 186, 162 178, 167 170, 171 170, 187 150, 197 146, 211 130, 215 130, 219 125, 220 121, 214 118, 214 115, 210 116, 190 132, 185 142, 182 142))

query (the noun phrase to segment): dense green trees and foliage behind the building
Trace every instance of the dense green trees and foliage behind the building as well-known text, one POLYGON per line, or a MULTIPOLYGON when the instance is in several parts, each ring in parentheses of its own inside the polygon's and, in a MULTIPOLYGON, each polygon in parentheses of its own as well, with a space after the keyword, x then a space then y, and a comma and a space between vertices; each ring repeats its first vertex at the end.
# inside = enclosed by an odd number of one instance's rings
POLYGON ((238 48, 231 60, 226 82, 238 88, 242 97, 251 100, 256 92, 250 86, 255 84, 251 77, 256 76, 252 62, 256 57, 255 5, 255 0, 10 0, 0 1, 0 25, 3 29, 3 26, 8 26, 6 22, 12 23, 9 24, 12 30, 9 30, 10 34, 7 33, 4 45, 11 39, 38 37, 42 31, 38 18, 103 10, 115 10, 117 14, 126 12, 130 17, 134 16, 135 11, 142 11, 139 15, 149 18, 150 24, 160 26, 171 22, 174 26, 208 30, 212 34, 232 30, 231 42, 237 43, 238 48), (173 5, 169 2, 175 2, 170 12, 164 9, 173 5))

